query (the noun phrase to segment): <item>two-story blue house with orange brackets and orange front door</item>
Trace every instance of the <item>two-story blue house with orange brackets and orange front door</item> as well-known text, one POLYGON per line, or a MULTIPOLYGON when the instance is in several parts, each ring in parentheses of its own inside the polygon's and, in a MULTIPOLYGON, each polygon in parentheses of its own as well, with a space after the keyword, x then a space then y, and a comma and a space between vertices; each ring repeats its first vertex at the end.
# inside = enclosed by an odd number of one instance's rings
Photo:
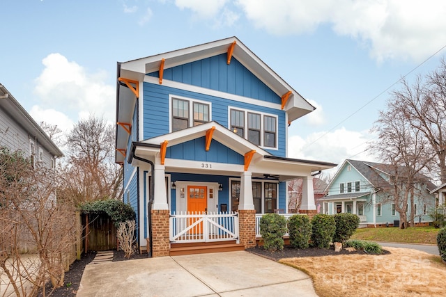
POLYGON ((287 181, 316 212, 313 176, 334 163, 291 159, 288 127, 314 111, 237 38, 118 63, 116 162, 138 243, 153 257, 179 244, 247 248, 259 218, 286 215, 287 181))

